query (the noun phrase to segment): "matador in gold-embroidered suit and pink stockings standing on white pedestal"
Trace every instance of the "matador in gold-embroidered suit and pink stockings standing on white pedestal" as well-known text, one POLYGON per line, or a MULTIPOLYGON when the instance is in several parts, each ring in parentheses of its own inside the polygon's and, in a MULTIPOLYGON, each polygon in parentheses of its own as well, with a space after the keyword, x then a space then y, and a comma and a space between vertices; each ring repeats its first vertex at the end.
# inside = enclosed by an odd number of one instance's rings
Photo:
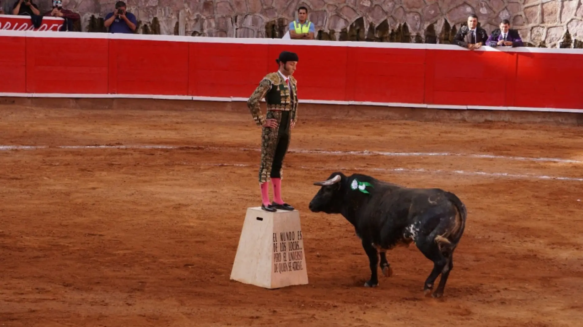
POLYGON ((255 123, 262 127, 259 187, 261 208, 269 212, 294 209, 282 200, 282 163, 290 143, 291 129, 297 121, 297 88, 292 74, 298 56, 283 51, 275 61, 279 65, 278 71, 267 74, 247 101, 255 123), (259 107, 263 98, 267 106, 265 118, 259 107), (268 182, 273 185, 273 202, 269 201, 268 182))

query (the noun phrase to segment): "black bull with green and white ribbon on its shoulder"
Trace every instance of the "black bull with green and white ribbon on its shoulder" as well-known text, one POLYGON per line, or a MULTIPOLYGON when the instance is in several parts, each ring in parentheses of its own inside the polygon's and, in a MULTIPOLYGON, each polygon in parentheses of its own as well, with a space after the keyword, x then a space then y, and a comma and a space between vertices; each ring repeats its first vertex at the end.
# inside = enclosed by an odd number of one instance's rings
POLYGON ((345 176, 339 172, 314 185, 321 189, 310 201, 310 210, 341 214, 352 223, 362 240, 371 270, 370 280, 364 286, 378 285, 379 252, 382 273, 390 276, 392 269, 385 252, 415 242, 433 261, 433 271, 424 283, 424 292, 431 293, 441 273, 440 283, 432 296, 443 295, 467 216, 465 205, 458 197, 441 189, 410 189, 367 175, 345 176))

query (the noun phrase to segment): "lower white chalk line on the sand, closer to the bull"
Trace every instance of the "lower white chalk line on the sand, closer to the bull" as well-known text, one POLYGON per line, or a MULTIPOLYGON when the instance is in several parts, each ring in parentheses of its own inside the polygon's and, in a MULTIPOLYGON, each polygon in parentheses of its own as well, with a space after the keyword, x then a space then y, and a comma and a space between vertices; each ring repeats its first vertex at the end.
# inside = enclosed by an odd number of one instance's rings
MULTIPOLYGON (((247 165, 244 163, 200 163, 201 166, 227 166, 227 167, 254 167, 255 165, 247 165)), ((577 177, 561 177, 561 176, 545 176, 545 175, 522 175, 513 173, 488 173, 488 172, 468 172, 466 170, 442 170, 442 169, 424 169, 424 168, 324 168, 324 167, 306 167, 300 166, 301 169, 311 169, 311 170, 329 170, 329 171, 340 171, 340 170, 373 170, 380 172, 419 172, 419 173, 445 173, 445 174, 459 174, 459 175, 474 175, 474 176, 489 176, 489 177, 511 177, 511 178, 521 178, 521 179, 546 179, 546 180, 568 180, 571 182, 583 182, 583 178, 577 177)))

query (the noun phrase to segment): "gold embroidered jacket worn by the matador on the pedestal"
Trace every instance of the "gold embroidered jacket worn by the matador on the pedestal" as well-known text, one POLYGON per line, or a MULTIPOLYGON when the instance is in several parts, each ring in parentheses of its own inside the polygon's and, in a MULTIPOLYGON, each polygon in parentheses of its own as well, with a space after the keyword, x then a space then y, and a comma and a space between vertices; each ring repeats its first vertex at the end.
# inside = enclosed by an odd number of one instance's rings
POLYGON ((293 106, 290 101, 290 91, 285 79, 278 72, 269 73, 259 82, 259 86, 247 100, 247 106, 258 126, 265 124, 265 117, 261 113, 259 102, 265 98, 267 110, 291 111, 291 121, 297 120, 297 81, 290 76, 290 84, 293 89, 293 106))

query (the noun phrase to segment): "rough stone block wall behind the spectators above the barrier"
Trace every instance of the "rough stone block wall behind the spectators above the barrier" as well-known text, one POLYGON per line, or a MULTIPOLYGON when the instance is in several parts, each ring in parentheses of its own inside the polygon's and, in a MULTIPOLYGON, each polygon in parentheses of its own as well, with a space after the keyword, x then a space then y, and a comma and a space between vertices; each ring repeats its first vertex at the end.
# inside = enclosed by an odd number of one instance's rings
MULTIPOLYGON (((44 0, 43 0, 44 1, 44 0)), ((50 6, 50 2, 39 5, 50 6)), ((509 19, 529 46, 583 47, 583 0, 127 0, 142 34, 280 38, 306 6, 319 40, 451 42, 470 13, 488 33, 509 19)), ((83 31, 105 31, 115 0, 64 0, 83 31)))

